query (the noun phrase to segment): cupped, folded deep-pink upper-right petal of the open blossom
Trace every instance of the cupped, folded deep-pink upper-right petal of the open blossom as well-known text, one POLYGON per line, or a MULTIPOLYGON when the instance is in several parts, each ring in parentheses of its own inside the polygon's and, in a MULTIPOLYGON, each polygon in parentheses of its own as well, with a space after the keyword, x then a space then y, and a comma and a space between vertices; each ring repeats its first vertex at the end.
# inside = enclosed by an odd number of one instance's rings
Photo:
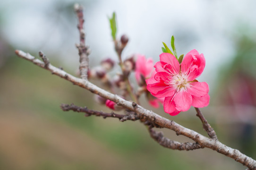
POLYGON ((204 68, 204 54, 199 54, 196 50, 189 51, 181 62, 181 72, 188 75, 191 73, 189 76, 193 76, 189 78, 189 81, 194 80, 196 77, 200 76, 204 68))

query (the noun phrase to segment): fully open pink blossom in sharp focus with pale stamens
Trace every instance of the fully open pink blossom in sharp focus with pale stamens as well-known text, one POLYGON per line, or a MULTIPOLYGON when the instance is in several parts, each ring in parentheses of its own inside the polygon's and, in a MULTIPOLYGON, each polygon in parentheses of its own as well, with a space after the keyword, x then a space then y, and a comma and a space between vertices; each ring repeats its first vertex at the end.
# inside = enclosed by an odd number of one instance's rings
POLYGON ((162 53, 154 68, 155 75, 146 80, 147 90, 157 98, 164 97, 166 113, 175 116, 191 105, 200 108, 209 104, 208 84, 196 80, 205 68, 203 54, 189 51, 179 64, 170 53, 162 53))

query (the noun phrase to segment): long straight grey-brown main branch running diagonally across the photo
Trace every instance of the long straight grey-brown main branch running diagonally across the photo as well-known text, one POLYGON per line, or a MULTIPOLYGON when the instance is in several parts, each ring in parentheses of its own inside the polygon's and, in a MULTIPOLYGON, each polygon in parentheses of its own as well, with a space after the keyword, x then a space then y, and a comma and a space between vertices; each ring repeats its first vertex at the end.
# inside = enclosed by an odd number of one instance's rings
MULTIPOLYGON (((25 52, 19 51, 19 50, 16 50, 15 52, 19 57, 26 59, 28 61, 31 61, 35 65, 37 65, 41 68, 45 68, 44 67, 45 64, 43 63, 43 61, 41 61, 39 59, 35 59, 29 53, 25 53, 25 52)), ((205 136, 197 133, 196 131, 193 131, 191 129, 188 129, 186 127, 179 125, 178 123, 174 122, 173 120, 163 118, 162 116, 154 113, 151 110, 146 110, 145 108, 141 107, 140 105, 137 105, 136 103, 135 103, 136 106, 133 106, 132 102, 128 102, 116 94, 109 93, 109 92, 99 88, 98 86, 90 83, 89 81, 87 81, 85 79, 81 79, 81 78, 72 76, 72 75, 66 73, 65 71, 61 70, 60 68, 56 68, 56 67, 52 66, 51 64, 49 64, 49 66, 45 69, 51 71, 51 73, 54 75, 60 76, 64 79, 72 82, 74 85, 78 85, 82 88, 85 88, 92 93, 102 96, 103 98, 106 98, 113 102, 116 102, 118 105, 120 105, 128 110, 132 110, 132 111, 136 112, 140 118, 153 121, 155 124, 159 125, 160 127, 165 127, 165 128, 171 129, 171 130, 175 131, 177 135, 187 136, 188 138, 190 138, 190 139, 194 140, 195 142, 197 142, 198 144, 200 144, 200 146, 202 146, 202 147, 207 147, 207 148, 217 151, 218 153, 222 153, 222 154, 234 159, 235 161, 240 162, 243 165, 247 166, 250 170, 256 170, 256 161, 254 159, 248 157, 247 155, 241 153, 239 150, 232 149, 232 148, 222 144, 218 140, 214 140, 214 139, 205 137, 205 136)))

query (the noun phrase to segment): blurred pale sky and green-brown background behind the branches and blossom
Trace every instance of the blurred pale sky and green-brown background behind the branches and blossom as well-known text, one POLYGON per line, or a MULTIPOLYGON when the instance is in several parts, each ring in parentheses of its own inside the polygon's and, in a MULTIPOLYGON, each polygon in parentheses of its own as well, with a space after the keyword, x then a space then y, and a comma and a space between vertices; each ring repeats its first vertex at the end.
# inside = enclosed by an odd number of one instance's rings
MULTIPOLYGON (((91 66, 117 56, 108 16, 117 13, 118 36, 129 42, 123 58, 140 53, 156 62, 162 42, 175 36, 178 54, 204 53, 198 78, 210 87, 201 109, 219 140, 256 159, 256 1, 254 0, 1 0, 0 1, 0 169, 1 170, 241 170, 240 163, 210 149, 163 148, 139 122, 84 117, 63 112, 75 103, 110 112, 94 95, 14 55, 43 51, 56 67, 76 75, 79 42, 74 3, 85 7, 91 66)), ((133 79, 134 80, 134 79, 133 79)), ((101 85, 100 81, 95 81, 101 85)), ((136 82, 134 82, 136 83, 136 82)), ((206 135, 196 112, 171 117, 206 135)), ((162 129, 161 129, 162 130, 162 129)), ((189 140, 163 129, 180 142, 189 140)), ((189 141, 191 142, 191 141, 189 141)))

